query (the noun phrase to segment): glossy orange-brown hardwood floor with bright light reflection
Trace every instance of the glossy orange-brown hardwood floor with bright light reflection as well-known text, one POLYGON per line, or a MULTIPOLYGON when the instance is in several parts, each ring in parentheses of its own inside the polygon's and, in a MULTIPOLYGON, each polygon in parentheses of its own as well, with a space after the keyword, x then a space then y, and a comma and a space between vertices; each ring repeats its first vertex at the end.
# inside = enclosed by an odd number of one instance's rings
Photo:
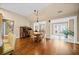
POLYGON ((30 38, 17 39, 14 50, 15 55, 77 55, 79 45, 66 43, 61 40, 46 40, 46 42, 33 42, 30 38))

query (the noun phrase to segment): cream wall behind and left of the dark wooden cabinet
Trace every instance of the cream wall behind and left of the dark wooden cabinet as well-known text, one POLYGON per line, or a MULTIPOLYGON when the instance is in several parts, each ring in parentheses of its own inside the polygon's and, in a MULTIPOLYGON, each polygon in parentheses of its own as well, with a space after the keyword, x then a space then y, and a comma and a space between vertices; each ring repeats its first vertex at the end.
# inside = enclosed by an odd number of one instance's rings
POLYGON ((20 26, 30 26, 30 22, 24 16, 16 14, 14 12, 7 11, 5 9, 0 9, 0 13, 3 14, 4 19, 9 19, 14 21, 14 34, 16 38, 19 38, 19 27, 20 26))

